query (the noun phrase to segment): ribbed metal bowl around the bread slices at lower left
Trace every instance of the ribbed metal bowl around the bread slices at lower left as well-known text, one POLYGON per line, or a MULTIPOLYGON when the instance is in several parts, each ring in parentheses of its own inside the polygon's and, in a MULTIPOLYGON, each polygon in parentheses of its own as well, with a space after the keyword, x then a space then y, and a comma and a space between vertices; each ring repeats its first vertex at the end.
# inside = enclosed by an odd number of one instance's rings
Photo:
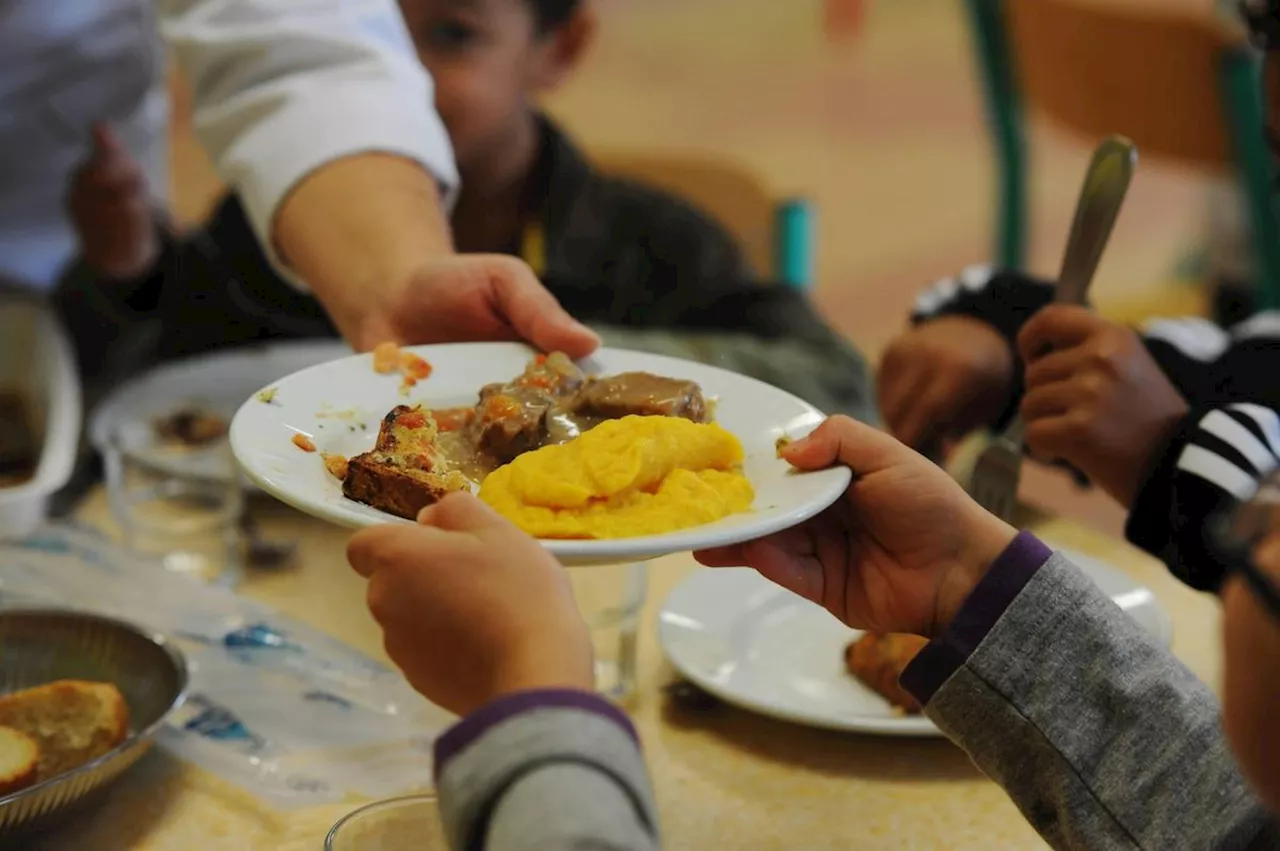
POLYGON ((187 695, 187 662, 164 636, 69 609, 0 610, 0 694, 55 680, 115 683, 129 737, 109 754, 0 797, 0 842, 26 834, 133 765, 187 695))

